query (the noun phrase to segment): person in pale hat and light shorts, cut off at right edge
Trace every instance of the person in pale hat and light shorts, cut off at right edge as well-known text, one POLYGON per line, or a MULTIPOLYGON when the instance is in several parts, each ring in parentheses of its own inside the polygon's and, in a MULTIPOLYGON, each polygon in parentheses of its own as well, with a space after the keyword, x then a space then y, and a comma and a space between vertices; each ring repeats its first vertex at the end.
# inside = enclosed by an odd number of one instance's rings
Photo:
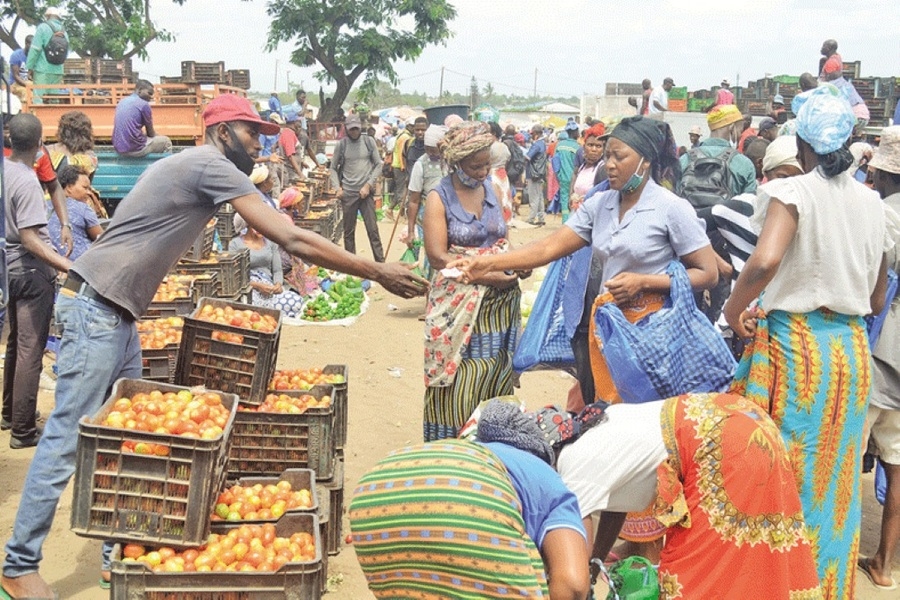
MULTIPOLYGON (((869 162, 872 181, 886 204, 885 217, 898 244, 887 256, 888 268, 900 272, 900 125, 881 131, 881 143, 869 162)), ((859 567, 881 590, 894 590, 891 557, 900 542, 900 297, 888 309, 881 336, 872 350, 875 385, 869 402, 867 422, 887 479, 881 541, 869 558, 860 558, 859 567)), ((865 447, 865 446, 863 446, 865 447)))

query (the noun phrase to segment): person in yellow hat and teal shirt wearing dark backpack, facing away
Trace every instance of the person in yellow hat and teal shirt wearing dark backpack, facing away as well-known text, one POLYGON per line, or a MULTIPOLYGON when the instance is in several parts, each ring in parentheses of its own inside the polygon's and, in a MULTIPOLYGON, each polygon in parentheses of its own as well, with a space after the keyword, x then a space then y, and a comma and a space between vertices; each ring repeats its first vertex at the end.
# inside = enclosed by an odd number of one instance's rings
POLYGON ((728 298, 734 269, 728 262, 727 244, 715 230, 712 207, 738 194, 756 192, 756 167, 736 148, 744 130, 744 116, 737 106, 713 107, 706 122, 709 138, 681 157, 682 178, 676 193, 686 198, 706 221, 716 251, 719 283, 709 290, 708 299, 697 298, 700 309, 715 323, 728 298))

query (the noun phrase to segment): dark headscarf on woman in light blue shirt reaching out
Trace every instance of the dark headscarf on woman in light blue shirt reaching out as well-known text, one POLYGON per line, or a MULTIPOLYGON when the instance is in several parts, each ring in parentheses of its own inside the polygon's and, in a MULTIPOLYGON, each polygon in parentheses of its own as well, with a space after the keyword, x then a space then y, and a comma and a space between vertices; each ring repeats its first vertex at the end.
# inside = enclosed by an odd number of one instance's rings
POLYGON ((681 179, 678 146, 668 123, 645 117, 627 117, 613 129, 610 137, 628 146, 650 161, 653 180, 667 189, 675 189, 681 179))

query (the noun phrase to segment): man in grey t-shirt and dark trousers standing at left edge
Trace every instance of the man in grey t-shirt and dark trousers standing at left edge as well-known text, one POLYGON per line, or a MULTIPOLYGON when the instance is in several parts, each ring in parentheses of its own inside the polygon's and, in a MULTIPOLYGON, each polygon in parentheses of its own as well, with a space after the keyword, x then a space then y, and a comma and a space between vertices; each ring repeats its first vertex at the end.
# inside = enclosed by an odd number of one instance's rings
MULTIPOLYGON (((3 426, 12 429, 9 447, 14 450, 36 446, 41 437, 35 408, 53 316, 56 271, 68 271, 72 264, 54 250, 47 231, 44 191, 33 167, 41 134, 41 122, 34 115, 13 117, 9 123, 12 154, 3 166, 9 270, 3 426)), ((60 223, 71 229, 67 214, 60 216, 60 223)))

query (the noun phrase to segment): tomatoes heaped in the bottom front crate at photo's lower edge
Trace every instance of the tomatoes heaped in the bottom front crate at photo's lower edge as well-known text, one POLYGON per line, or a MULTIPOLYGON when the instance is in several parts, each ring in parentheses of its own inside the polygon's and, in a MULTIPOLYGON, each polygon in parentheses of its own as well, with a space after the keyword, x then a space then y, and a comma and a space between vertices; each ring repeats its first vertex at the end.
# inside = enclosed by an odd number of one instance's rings
POLYGON ((154 572, 277 571, 289 562, 316 559, 315 539, 309 533, 278 537, 275 525, 241 525, 226 534, 210 534, 206 545, 187 550, 170 547, 147 550, 139 544, 122 549, 122 562, 142 562, 154 572))

